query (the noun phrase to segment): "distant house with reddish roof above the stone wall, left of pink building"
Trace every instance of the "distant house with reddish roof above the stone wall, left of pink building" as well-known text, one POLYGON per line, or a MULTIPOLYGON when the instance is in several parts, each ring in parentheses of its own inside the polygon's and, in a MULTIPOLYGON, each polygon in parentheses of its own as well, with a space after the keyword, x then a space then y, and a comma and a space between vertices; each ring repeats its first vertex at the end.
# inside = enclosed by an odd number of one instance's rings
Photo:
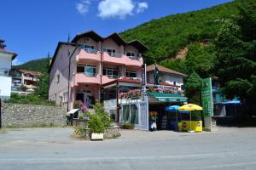
POLYGON ((41 75, 39 71, 12 70, 12 93, 29 94, 38 88, 38 78, 41 75), (26 87, 26 91, 22 91, 21 86, 26 87))

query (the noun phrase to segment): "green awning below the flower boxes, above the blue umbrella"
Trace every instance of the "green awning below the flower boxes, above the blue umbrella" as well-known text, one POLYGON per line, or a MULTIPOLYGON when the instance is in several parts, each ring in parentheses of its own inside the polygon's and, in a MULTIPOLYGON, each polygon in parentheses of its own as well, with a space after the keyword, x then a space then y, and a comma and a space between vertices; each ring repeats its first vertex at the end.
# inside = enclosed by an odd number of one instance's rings
POLYGON ((160 102, 188 102, 188 98, 181 94, 161 94, 153 92, 147 92, 147 94, 160 102))

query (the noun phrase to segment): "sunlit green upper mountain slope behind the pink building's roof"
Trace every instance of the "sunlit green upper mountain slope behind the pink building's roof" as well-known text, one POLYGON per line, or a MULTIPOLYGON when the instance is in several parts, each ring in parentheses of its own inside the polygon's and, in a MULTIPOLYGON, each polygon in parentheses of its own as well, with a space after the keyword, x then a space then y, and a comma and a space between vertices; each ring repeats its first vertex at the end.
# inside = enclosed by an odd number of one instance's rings
POLYGON ((236 17, 236 3, 224 3, 212 8, 184 14, 172 14, 121 32, 126 41, 137 39, 150 51, 144 54, 147 63, 174 57, 189 42, 214 39, 224 20, 236 17))

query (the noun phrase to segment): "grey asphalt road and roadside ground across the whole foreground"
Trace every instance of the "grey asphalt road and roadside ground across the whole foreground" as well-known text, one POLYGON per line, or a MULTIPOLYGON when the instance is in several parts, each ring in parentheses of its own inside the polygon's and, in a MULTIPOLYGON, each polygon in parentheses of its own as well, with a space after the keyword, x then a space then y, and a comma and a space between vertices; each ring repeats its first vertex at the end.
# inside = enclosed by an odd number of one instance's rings
POLYGON ((256 169, 256 128, 212 133, 122 131, 119 139, 73 139, 71 128, 0 134, 1 170, 256 169))

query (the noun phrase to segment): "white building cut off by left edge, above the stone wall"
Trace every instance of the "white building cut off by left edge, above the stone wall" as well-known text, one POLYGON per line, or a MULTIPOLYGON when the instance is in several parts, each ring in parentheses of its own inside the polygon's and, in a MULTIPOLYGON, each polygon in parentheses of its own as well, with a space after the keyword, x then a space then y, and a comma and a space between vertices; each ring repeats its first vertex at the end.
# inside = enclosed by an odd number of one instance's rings
POLYGON ((7 51, 6 45, 0 40, 0 98, 9 99, 11 94, 11 65, 17 54, 7 51))

